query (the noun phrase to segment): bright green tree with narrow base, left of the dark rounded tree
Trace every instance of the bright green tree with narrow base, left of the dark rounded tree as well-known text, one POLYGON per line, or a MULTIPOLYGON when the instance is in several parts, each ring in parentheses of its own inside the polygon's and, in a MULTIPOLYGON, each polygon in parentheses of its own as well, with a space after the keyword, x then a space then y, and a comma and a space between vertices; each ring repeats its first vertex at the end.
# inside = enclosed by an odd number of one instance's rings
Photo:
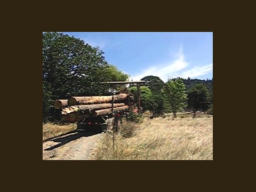
POLYGON ((168 81, 165 86, 165 93, 175 117, 179 110, 186 107, 187 93, 185 84, 181 79, 168 81))

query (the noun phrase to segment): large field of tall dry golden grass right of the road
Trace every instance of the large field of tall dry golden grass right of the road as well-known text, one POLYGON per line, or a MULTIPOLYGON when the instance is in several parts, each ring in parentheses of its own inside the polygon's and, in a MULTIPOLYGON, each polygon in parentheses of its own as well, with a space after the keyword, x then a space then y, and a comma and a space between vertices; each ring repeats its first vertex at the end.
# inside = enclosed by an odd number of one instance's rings
POLYGON ((103 138, 97 159, 213 159, 212 116, 146 118, 140 125, 125 123, 116 134, 114 150, 111 135, 103 138))

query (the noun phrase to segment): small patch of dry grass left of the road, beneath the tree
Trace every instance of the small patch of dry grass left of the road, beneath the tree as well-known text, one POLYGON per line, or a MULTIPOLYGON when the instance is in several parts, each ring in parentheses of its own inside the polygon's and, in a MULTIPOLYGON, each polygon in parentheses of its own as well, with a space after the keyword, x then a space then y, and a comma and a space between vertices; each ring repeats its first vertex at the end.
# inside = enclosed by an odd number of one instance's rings
POLYGON ((69 124, 69 125, 57 125, 53 123, 43 124, 43 142, 50 138, 65 134, 69 131, 73 131, 75 129, 76 129, 76 124, 69 124))

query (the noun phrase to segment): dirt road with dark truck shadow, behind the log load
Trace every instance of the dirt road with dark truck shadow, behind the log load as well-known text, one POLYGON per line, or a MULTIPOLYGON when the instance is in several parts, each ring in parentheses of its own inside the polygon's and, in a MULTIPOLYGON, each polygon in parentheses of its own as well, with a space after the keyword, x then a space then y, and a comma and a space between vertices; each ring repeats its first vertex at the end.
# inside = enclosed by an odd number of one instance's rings
POLYGON ((94 150, 103 137, 101 132, 74 131, 43 142, 43 159, 91 160, 94 150))

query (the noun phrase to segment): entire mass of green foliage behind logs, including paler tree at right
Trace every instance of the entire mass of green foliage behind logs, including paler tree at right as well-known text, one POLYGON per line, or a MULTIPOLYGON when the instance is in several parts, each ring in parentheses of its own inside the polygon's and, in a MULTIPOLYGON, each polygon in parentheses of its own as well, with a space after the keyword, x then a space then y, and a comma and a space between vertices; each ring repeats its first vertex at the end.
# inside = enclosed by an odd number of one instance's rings
POLYGON ((53 101, 69 96, 103 95, 105 81, 125 81, 127 75, 107 63, 99 47, 62 33, 43 34, 43 119, 57 121, 53 101))

